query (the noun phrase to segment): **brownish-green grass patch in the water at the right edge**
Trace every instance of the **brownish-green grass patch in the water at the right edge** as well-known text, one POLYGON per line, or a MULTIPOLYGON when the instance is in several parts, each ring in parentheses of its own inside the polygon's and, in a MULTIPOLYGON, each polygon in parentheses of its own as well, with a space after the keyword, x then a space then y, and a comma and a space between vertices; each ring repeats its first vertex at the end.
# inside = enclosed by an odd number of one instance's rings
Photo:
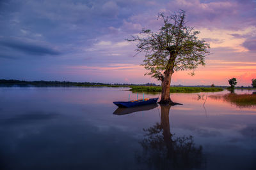
POLYGON ((223 96, 211 95, 212 99, 223 99, 223 101, 228 101, 235 104, 239 108, 256 106, 256 94, 225 94, 223 96))

